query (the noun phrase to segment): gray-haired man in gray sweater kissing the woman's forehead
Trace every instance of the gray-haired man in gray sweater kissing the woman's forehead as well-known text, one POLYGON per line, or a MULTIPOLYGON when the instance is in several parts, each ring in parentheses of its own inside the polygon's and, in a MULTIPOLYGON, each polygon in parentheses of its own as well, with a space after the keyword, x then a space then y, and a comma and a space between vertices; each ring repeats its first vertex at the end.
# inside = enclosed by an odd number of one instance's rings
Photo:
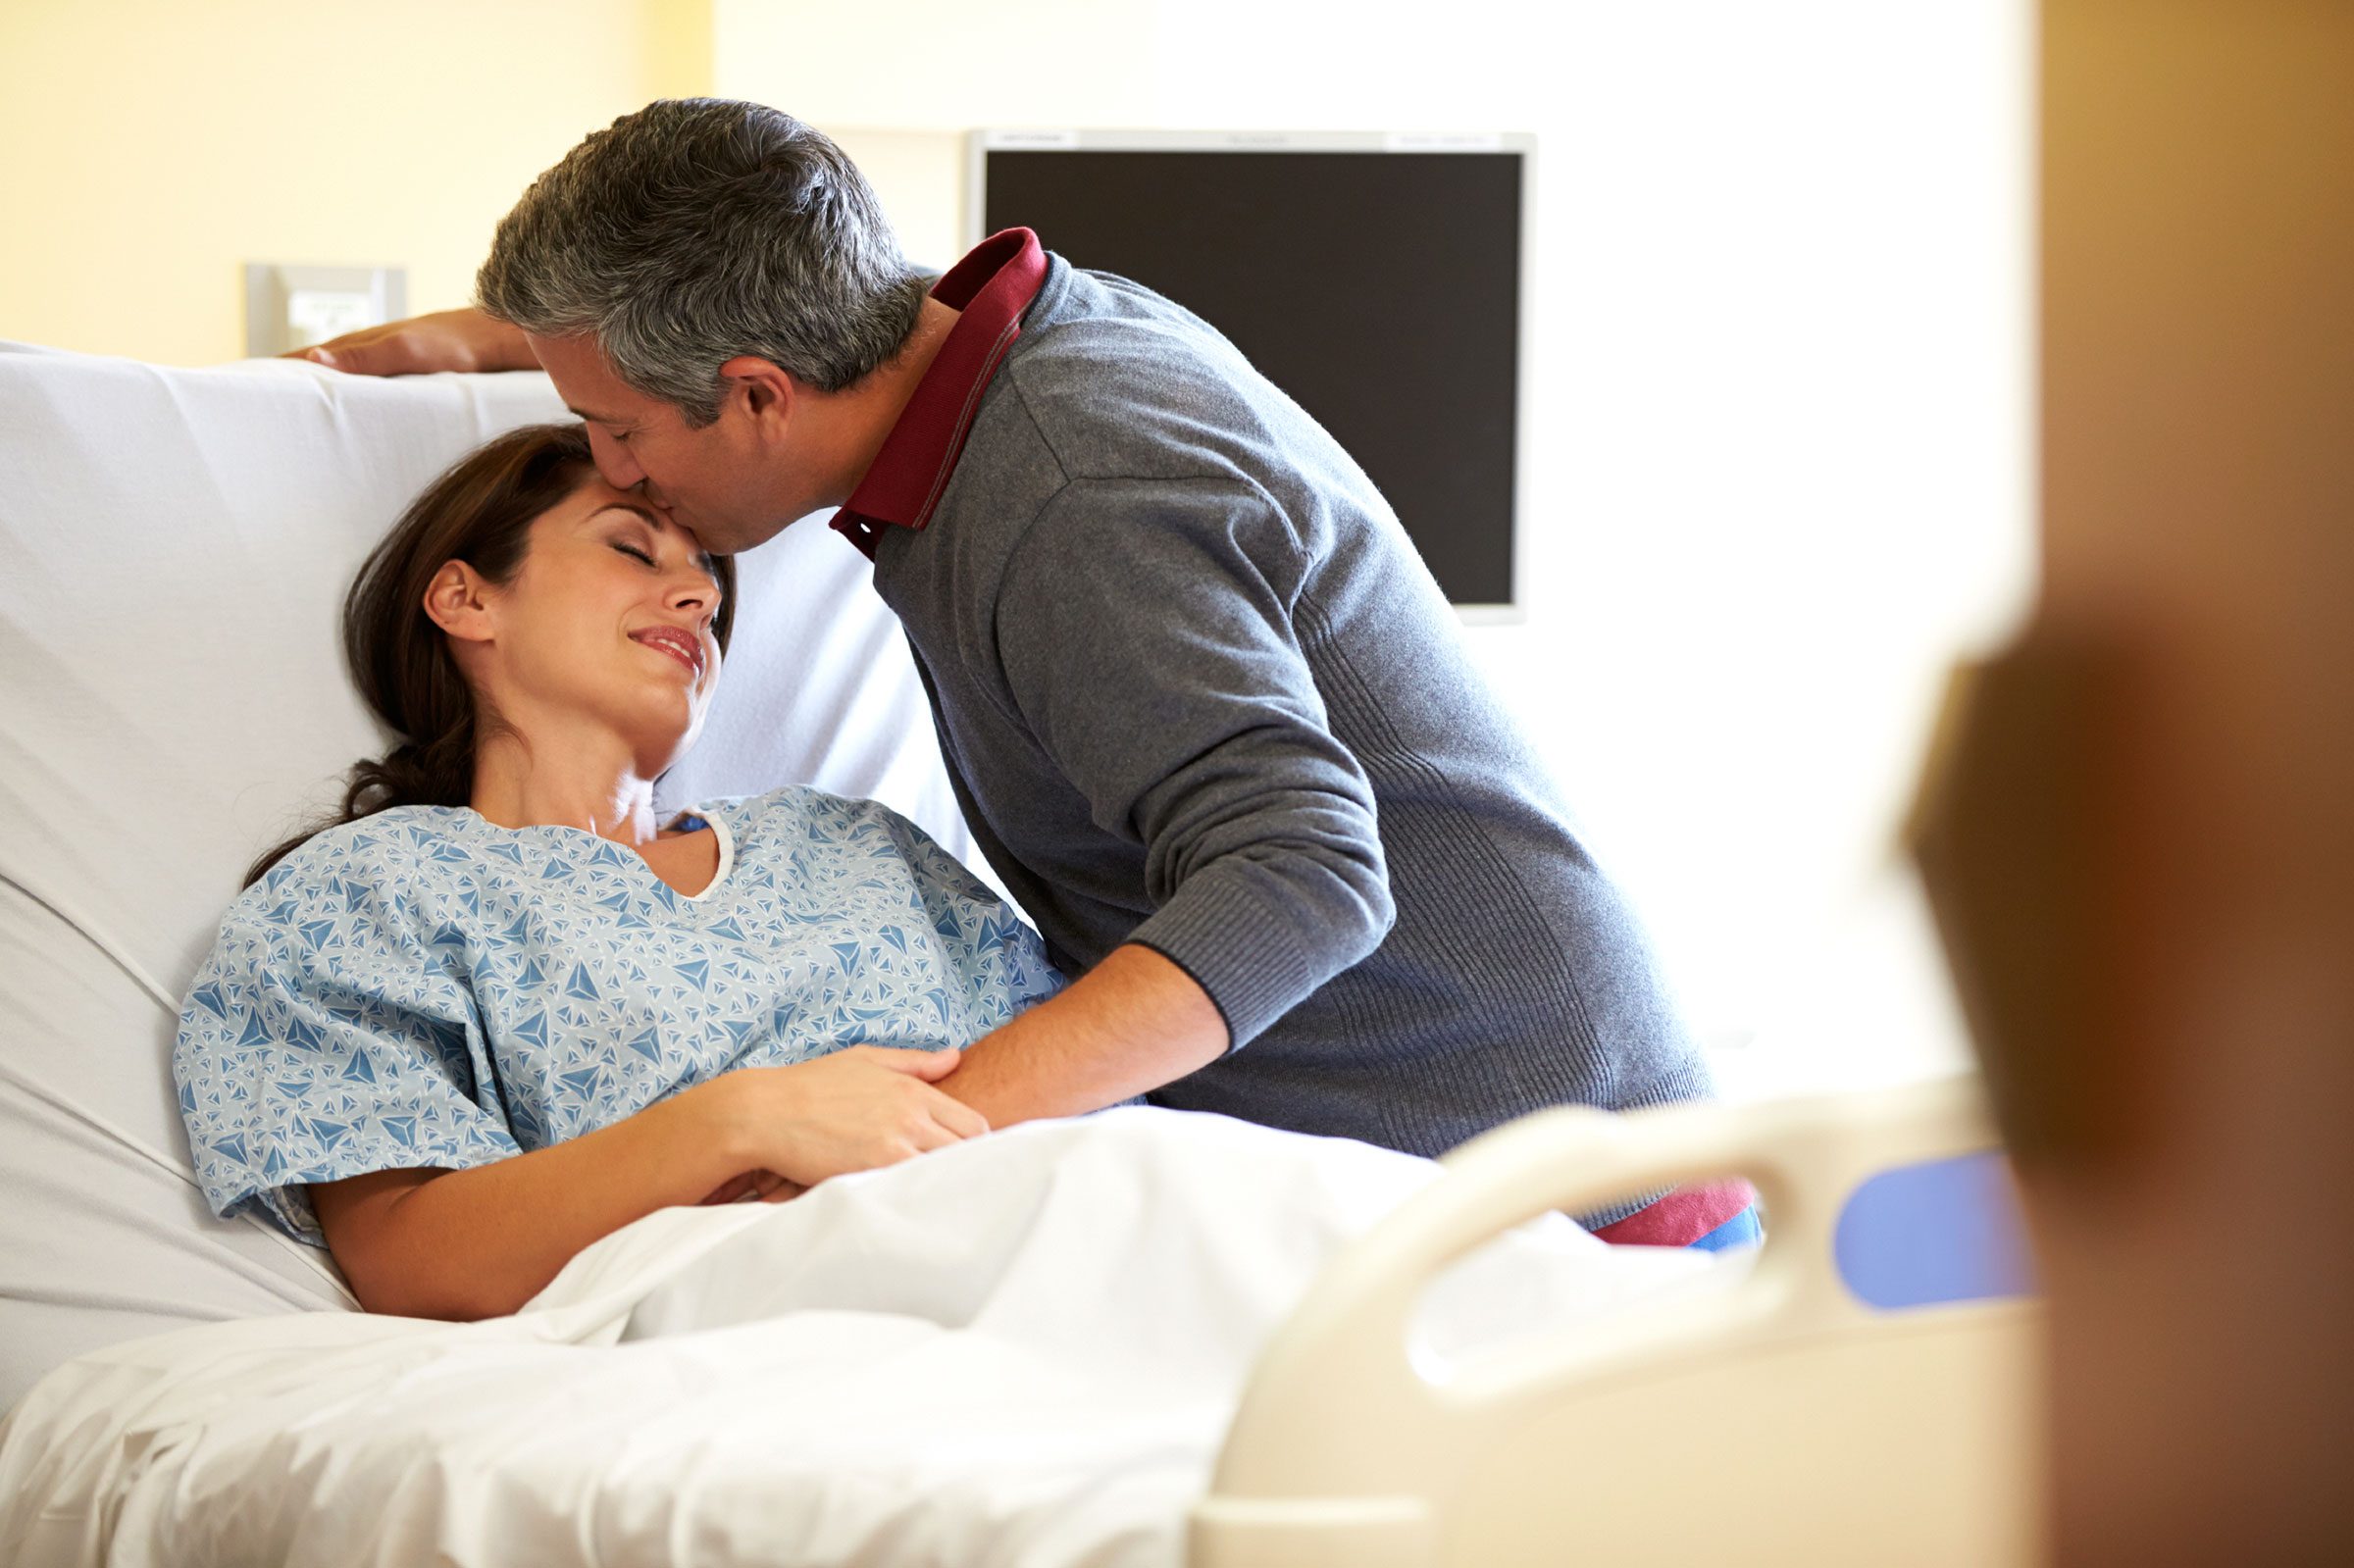
MULTIPOLYGON (((925 290, 831 141, 716 99, 541 174, 478 297, 313 358, 546 367, 706 549, 836 506, 873 560, 972 833, 1078 977, 942 1081, 993 1125, 1149 1095, 1438 1154, 1709 1092, 1398 520, 1203 320, 1029 231, 925 290)), ((1589 1220, 1721 1243, 1747 1203, 1589 1220)))

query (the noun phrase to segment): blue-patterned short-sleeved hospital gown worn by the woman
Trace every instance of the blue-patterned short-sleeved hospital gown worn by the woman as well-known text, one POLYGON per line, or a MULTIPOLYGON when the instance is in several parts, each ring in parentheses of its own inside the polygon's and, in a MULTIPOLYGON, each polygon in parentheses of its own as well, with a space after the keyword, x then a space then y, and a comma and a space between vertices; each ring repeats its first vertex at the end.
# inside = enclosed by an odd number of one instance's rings
POLYGON ((967 1045, 1062 977, 904 817, 779 789, 694 810, 718 878, 676 892, 572 826, 405 805, 245 890, 172 1074, 217 1215, 325 1245, 306 1182, 544 1149, 734 1067, 967 1045))

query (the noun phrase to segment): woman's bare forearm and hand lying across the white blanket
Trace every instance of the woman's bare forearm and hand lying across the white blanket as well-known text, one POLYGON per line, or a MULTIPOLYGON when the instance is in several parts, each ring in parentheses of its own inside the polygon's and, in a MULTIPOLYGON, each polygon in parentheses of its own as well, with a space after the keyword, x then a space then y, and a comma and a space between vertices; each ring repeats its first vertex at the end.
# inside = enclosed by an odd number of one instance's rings
POLYGON ((749 1172, 814 1187, 986 1132, 986 1121, 932 1088, 956 1062, 953 1050, 859 1045, 793 1067, 746 1067, 490 1165, 315 1182, 311 1205, 370 1311, 501 1316, 591 1241, 749 1172))

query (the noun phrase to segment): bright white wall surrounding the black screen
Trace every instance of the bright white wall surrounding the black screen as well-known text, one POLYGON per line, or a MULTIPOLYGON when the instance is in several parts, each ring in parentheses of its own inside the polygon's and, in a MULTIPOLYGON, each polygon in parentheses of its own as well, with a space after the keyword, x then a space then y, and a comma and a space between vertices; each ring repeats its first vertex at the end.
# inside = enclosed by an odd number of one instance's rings
POLYGON ((713 82, 836 132, 927 259, 977 125, 1535 132, 1530 614, 1469 636, 1761 1092, 1961 1055, 1893 831, 2034 570, 2027 24, 718 0, 713 82))

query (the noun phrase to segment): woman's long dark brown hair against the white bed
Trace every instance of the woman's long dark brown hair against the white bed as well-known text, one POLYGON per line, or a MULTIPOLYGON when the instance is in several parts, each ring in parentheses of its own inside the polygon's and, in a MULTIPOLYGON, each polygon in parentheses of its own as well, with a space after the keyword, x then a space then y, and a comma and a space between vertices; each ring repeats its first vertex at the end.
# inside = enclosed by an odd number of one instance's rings
MULTIPOLYGON (((527 424, 468 452, 410 501, 344 596, 351 680, 400 744, 353 763, 344 775, 341 812, 261 855, 245 871, 247 888, 344 822, 395 805, 466 805, 473 798, 476 699, 450 657, 450 638, 424 610, 426 586, 452 560, 492 584, 513 582, 532 518, 593 476, 586 426, 527 424)), ((711 565, 720 582, 713 633, 725 650, 734 626, 734 560, 713 556, 711 565)))

